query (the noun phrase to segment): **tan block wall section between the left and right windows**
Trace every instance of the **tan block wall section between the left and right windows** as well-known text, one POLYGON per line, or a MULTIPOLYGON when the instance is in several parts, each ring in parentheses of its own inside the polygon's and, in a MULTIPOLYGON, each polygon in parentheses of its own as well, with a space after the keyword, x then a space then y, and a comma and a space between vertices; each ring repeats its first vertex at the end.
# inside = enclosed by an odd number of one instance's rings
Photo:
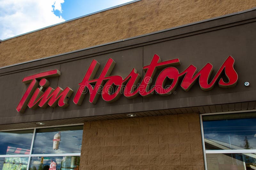
POLYGON ((84 124, 81 170, 203 170, 198 114, 84 124))

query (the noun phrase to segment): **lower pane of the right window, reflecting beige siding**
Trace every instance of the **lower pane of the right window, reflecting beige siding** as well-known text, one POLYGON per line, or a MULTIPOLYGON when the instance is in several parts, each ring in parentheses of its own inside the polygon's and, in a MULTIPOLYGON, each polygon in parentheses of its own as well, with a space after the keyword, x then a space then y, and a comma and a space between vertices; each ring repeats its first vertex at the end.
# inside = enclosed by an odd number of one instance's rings
POLYGON ((255 153, 216 153, 206 154, 207 168, 225 170, 253 170, 256 169, 255 153))

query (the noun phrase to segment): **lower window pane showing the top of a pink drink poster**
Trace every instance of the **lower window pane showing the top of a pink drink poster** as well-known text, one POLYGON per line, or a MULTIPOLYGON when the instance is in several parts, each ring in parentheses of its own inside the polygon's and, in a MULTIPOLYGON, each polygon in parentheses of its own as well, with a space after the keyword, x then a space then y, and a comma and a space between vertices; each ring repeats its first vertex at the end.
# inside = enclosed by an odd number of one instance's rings
POLYGON ((29 170, 78 170, 80 156, 31 157, 29 170))

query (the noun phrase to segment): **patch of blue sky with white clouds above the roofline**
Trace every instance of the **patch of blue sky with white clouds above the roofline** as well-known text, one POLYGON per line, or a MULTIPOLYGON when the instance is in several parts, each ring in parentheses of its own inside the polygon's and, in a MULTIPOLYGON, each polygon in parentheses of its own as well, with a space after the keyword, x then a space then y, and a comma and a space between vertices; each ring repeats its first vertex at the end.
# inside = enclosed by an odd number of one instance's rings
POLYGON ((0 39, 127 2, 131 0, 0 0, 0 39))

